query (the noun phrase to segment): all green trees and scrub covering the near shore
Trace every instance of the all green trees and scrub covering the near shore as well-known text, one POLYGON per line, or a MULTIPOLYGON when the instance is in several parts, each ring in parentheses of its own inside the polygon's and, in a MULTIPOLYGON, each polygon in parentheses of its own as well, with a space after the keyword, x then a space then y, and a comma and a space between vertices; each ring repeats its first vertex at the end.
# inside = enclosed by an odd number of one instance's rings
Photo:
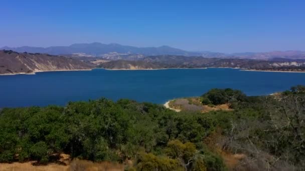
POLYGON ((126 163, 130 170, 300 169, 305 166, 304 89, 292 87, 277 96, 213 89, 204 96, 213 104, 234 97, 234 110, 204 114, 104 98, 65 107, 4 108, 0 162, 46 163, 67 153, 126 163), (242 157, 228 164, 226 156, 235 154, 242 157))

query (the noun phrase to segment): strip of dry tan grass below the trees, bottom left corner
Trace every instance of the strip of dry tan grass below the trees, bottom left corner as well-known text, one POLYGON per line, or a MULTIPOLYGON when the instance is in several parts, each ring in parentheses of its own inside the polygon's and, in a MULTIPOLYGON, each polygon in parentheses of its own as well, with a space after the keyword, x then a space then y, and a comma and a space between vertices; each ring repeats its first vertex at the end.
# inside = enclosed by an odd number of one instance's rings
POLYGON ((73 159, 67 154, 61 154, 60 159, 46 165, 37 165, 36 161, 0 163, 1 171, 121 171, 124 165, 108 161, 92 162, 88 160, 73 159))

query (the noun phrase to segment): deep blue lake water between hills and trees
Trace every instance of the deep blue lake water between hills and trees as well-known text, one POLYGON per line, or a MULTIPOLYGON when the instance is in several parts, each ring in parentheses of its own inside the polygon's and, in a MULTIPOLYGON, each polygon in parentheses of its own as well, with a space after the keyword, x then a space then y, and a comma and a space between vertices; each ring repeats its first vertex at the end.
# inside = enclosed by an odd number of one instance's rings
POLYGON ((230 68, 38 72, 0 76, 0 107, 129 98, 165 103, 198 96, 211 88, 236 88, 264 95, 305 84, 305 73, 241 71, 230 68))

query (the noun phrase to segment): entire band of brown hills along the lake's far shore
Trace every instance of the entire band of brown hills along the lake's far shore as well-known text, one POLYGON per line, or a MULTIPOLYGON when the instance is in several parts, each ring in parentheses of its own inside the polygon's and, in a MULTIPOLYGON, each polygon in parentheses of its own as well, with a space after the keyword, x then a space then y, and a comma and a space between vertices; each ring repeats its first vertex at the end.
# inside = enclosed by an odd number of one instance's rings
POLYGON ((45 53, 19 53, 12 50, 0 50, 0 74, 34 73, 53 70, 83 70, 91 69, 96 65, 106 69, 233 67, 251 70, 305 71, 305 61, 302 59, 287 60, 273 58, 273 60, 255 60, 184 55, 143 56, 126 54, 125 56, 128 60, 124 60, 122 59, 124 57, 121 57, 117 53, 112 53, 111 55, 112 57, 93 57, 81 53, 61 56, 45 53))

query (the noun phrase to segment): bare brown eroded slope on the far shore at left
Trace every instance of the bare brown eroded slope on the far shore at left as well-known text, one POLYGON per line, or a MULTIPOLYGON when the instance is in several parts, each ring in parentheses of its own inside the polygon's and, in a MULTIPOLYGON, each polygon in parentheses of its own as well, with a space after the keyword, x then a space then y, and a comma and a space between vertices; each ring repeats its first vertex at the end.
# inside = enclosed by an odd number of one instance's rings
POLYGON ((85 70, 94 64, 42 53, 18 53, 0 50, 0 74, 35 73, 39 71, 85 70))

